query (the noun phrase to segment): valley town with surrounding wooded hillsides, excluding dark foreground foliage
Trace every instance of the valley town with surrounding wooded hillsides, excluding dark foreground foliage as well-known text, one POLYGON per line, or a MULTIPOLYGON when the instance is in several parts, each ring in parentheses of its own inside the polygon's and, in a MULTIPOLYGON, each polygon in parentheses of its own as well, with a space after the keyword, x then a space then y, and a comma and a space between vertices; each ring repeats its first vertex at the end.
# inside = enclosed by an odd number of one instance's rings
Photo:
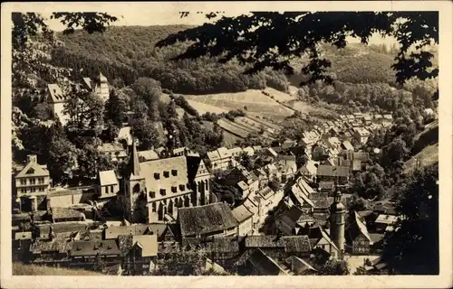
POLYGON ((304 87, 154 48, 185 29, 57 33, 68 77, 13 68, 14 274, 401 273, 401 195, 438 190, 431 82, 391 85, 384 44, 326 47, 333 85, 304 87))

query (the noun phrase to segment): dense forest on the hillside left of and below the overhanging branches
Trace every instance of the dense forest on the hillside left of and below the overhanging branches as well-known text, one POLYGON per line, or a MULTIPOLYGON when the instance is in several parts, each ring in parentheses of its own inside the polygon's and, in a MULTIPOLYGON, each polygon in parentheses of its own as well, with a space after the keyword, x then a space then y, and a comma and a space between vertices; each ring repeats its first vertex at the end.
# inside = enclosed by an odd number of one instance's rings
POLYGON ((105 33, 76 32, 59 35, 63 47, 53 51, 53 65, 72 69, 72 77, 93 77, 101 70, 118 86, 130 85, 139 77, 159 80, 163 89, 175 93, 207 94, 237 92, 246 89, 288 88, 281 72, 265 70, 243 74, 245 68, 235 62, 218 64, 214 59, 169 61, 187 47, 178 43, 158 49, 155 43, 188 26, 111 27, 105 33))

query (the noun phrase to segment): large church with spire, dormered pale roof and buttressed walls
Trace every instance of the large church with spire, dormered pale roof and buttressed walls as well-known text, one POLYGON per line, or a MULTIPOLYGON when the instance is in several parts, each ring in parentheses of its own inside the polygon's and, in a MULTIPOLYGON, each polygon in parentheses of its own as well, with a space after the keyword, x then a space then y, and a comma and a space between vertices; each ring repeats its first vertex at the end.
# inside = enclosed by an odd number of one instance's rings
POLYGON ((211 174, 198 154, 141 162, 135 143, 130 149, 121 200, 130 222, 171 222, 178 208, 210 203, 211 174))

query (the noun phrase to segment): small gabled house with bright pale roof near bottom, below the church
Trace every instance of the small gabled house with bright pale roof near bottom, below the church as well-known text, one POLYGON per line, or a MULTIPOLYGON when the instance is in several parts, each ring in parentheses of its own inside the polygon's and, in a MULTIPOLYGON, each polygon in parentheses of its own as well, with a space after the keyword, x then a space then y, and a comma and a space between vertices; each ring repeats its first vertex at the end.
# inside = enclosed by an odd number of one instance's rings
POLYGON ((157 235, 120 235, 121 267, 127 275, 148 275, 158 256, 157 235))

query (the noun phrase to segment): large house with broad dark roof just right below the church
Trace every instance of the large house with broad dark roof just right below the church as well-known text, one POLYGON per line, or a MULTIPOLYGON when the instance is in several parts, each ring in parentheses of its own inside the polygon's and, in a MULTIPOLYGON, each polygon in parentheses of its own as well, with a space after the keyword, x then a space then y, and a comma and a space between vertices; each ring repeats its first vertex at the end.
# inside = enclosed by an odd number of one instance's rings
POLYGON ((178 222, 182 238, 206 238, 208 236, 235 236, 238 222, 226 203, 181 208, 178 222))

